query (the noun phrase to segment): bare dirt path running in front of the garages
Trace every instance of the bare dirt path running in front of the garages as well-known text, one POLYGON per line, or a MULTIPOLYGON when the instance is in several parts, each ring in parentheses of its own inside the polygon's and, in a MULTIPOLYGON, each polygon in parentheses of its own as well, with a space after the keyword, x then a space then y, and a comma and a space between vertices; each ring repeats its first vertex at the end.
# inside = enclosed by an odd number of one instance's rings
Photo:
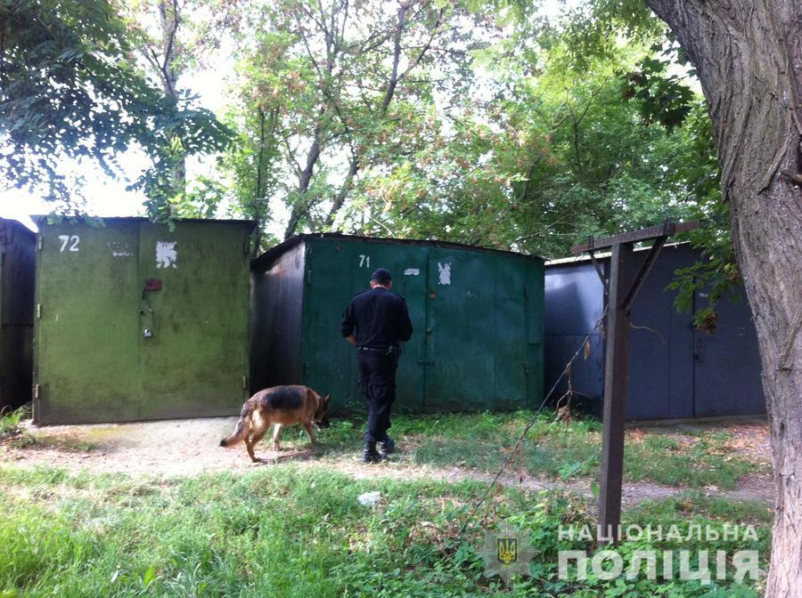
MULTIPOLYGON (((70 471, 89 470, 95 473, 126 473, 163 477, 192 476, 205 472, 246 472, 256 467, 269 467, 277 462, 294 462, 301 467, 321 465, 354 479, 377 477, 411 480, 439 479, 445 481, 490 481, 492 473, 460 467, 433 468, 414 463, 413 454, 399 442, 398 452, 391 462, 363 465, 356 455, 320 456, 311 448, 269 450, 258 446, 258 456, 264 461, 252 464, 242 446, 221 449, 219 440, 233 430, 235 417, 190 419, 138 424, 66 425, 37 428, 28 425, 26 432, 37 443, 25 448, 8 440, 0 443, 0 464, 21 467, 51 466, 70 471)), ((323 449, 325 448, 323 440, 323 449)), ((537 478, 526 473, 505 474, 500 482, 507 488, 570 489, 591 496, 590 480, 558 481, 537 478)), ((671 488, 650 482, 624 484, 624 502, 636 505, 644 500, 667 498, 680 494, 681 488, 671 488)), ((721 491, 710 487, 701 489, 709 496, 731 499, 771 501, 771 480, 765 476, 741 480, 739 488, 721 491)))

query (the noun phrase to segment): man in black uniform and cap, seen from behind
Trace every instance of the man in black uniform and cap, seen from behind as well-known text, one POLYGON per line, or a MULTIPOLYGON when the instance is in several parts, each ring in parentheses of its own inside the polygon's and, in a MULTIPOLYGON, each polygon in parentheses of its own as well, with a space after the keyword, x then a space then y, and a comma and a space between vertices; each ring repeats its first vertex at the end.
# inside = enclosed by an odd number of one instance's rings
POLYGON ((342 335, 356 345, 360 383, 368 402, 365 463, 386 459, 396 446, 387 431, 390 407, 396 400, 398 343, 408 341, 413 330, 404 297, 390 293, 392 287, 389 271, 373 272, 371 290, 356 295, 340 321, 342 335), (377 442, 381 452, 376 450, 377 442))

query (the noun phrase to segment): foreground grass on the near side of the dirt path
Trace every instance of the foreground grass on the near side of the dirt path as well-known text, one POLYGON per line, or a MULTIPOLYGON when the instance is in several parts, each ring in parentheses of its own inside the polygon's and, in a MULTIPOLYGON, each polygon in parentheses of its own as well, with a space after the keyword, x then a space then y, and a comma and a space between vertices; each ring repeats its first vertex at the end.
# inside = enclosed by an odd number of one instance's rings
MULTIPOLYGON (((483 573, 482 529, 511 521, 541 552, 533 577, 518 579, 510 596, 757 597, 730 581, 567 587, 556 577, 557 551, 593 546, 567 544, 558 528, 592 521, 584 499, 504 489, 460 537, 483 490, 471 481, 355 481, 293 465, 188 479, 0 465, 0 596, 484 596, 502 587, 483 573), (373 490, 380 503, 359 505, 373 490)), ((644 505, 625 522, 668 527, 743 516, 757 521, 766 546, 767 519, 755 505, 689 495, 644 505)))

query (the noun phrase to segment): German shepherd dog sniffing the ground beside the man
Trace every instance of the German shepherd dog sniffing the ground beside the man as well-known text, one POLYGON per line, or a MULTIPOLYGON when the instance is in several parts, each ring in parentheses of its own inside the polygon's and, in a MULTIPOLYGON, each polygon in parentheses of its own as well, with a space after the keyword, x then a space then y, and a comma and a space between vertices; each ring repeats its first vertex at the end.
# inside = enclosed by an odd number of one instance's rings
POLYGON ((307 431, 309 441, 315 443, 312 424, 318 430, 329 427, 329 399, 331 395, 321 397, 307 386, 274 386, 259 391, 242 405, 240 421, 237 422, 233 434, 220 440, 221 447, 232 447, 244 441, 250 460, 258 463, 253 454, 253 447, 265 436, 270 426, 275 424, 273 432, 273 448, 279 450, 282 438, 282 427, 301 424, 307 431))

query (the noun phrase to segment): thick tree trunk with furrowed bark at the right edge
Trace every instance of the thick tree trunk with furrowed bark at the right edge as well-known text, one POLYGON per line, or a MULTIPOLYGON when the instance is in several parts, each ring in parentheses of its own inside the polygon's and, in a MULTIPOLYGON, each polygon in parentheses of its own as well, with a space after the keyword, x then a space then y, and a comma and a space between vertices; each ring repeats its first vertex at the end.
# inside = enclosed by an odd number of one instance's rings
POLYGON ((802 588, 802 3, 647 0, 699 71, 757 327, 775 513, 765 595, 802 588))

